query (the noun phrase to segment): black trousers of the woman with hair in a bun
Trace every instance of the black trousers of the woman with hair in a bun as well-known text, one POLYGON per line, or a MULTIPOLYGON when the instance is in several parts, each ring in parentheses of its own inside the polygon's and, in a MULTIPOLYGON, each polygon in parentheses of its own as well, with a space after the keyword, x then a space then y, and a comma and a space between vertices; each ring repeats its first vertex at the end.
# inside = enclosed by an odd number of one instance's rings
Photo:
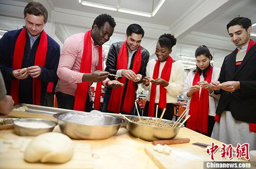
MULTIPOLYGON (((150 102, 146 101, 143 116, 148 116, 148 107, 149 106, 150 106, 150 102)), ((155 103, 155 115, 156 115, 156 109, 157 109, 157 103, 155 103)), ((161 115, 162 115, 162 110, 161 110, 161 108, 158 108, 157 118, 160 118, 161 115)), ((173 120, 173 116, 174 116, 174 105, 173 105, 173 103, 167 103, 166 110, 163 115, 163 119, 173 120)))

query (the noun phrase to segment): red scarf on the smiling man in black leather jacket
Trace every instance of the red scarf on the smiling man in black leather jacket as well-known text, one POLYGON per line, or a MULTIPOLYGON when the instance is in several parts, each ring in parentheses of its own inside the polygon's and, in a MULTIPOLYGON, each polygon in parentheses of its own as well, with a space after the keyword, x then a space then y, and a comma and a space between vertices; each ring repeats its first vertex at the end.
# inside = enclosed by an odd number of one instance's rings
MULTIPOLYGON (((117 70, 127 69, 127 64, 128 64, 128 53, 127 53, 126 41, 124 41, 118 53, 116 69, 117 70)), ((140 65, 141 65, 141 47, 139 46, 138 51, 136 52, 134 57, 132 71, 138 74, 140 70, 140 65)), ((118 81, 124 84, 125 77, 118 78, 118 81)), ((123 105, 121 109, 123 89, 124 89, 124 86, 119 87, 117 89, 112 89, 108 110, 116 113, 122 110, 123 112, 130 114, 135 101, 135 89, 136 89, 135 82, 133 80, 128 81, 124 100, 123 100, 123 105)))

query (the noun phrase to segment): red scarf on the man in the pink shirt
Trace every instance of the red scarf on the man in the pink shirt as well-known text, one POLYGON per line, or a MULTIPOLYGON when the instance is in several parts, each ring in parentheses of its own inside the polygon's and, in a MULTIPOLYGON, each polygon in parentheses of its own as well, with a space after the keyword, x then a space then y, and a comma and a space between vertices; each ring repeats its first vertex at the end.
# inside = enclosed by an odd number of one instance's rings
MULTIPOLYGON (((91 73, 92 69, 92 39, 91 31, 89 30, 84 34, 83 39, 83 52, 82 61, 80 65, 81 73, 91 73)), ((98 70, 102 70, 102 46, 99 47, 99 65, 98 70)), ((89 81, 84 81, 77 84, 74 110, 84 111, 86 108, 87 93, 89 90, 89 81)), ((95 99, 94 99, 94 109, 99 110, 100 108, 100 95, 101 95, 101 85, 102 81, 97 82, 95 99)))

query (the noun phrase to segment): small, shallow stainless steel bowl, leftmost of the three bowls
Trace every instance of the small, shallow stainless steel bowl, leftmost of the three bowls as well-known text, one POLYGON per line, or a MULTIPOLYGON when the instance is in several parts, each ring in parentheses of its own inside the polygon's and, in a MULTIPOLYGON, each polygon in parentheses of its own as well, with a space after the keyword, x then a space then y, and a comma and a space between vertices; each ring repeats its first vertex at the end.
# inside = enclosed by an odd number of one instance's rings
POLYGON ((57 123, 51 121, 51 120, 46 120, 46 119, 34 119, 34 118, 27 118, 27 119, 18 119, 13 121, 14 125, 14 130, 16 134, 22 135, 22 136, 36 136, 42 133, 46 132, 52 132, 54 127, 57 125, 57 123), (49 125, 49 127, 42 127, 40 128, 39 126, 36 127, 29 127, 28 125, 20 125, 18 122, 26 122, 26 123, 44 123, 49 125))

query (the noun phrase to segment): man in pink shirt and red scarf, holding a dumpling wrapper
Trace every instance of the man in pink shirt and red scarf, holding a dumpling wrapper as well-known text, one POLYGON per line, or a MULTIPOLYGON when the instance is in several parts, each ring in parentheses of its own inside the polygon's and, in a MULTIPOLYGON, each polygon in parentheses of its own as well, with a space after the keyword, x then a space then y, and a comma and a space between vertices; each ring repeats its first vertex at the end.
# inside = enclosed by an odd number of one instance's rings
POLYGON ((91 111, 90 86, 97 82, 94 108, 99 109, 97 95, 100 97, 101 81, 113 88, 123 85, 117 80, 109 80, 109 72, 102 71, 102 45, 109 41, 115 25, 113 17, 101 14, 95 18, 92 30, 66 39, 57 69, 59 80, 55 91, 59 108, 91 111))

